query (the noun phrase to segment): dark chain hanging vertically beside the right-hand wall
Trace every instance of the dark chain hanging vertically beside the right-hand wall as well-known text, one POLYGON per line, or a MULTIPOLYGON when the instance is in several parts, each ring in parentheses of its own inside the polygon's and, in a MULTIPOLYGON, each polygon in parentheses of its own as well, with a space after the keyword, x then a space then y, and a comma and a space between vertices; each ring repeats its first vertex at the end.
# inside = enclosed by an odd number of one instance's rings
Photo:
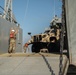
POLYGON ((60 33, 60 63, 59 63, 59 75, 63 75, 63 46, 64 46, 64 0, 62 0, 62 26, 61 26, 61 33, 60 33))

